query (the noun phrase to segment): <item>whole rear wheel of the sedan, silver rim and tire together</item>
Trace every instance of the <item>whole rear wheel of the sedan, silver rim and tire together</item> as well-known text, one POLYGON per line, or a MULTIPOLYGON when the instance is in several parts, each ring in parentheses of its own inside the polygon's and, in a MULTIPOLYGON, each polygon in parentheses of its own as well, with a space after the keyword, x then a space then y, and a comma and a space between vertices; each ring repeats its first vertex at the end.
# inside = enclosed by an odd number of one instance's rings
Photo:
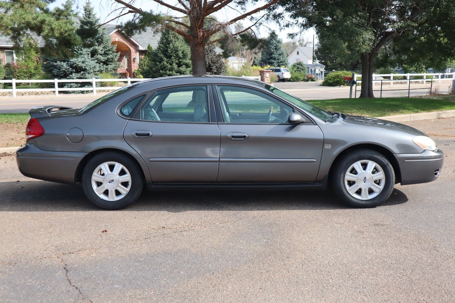
POLYGON ((142 172, 135 162, 120 153, 101 153, 84 168, 82 187, 96 206, 121 209, 141 194, 142 172))

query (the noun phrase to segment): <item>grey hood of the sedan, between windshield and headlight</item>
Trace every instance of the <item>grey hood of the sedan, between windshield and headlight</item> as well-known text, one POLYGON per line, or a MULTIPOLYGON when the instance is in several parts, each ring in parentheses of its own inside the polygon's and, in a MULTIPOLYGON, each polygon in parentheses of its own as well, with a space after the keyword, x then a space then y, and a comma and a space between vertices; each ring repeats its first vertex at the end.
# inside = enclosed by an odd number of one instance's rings
POLYGON ((349 125, 358 125, 358 126, 367 126, 380 128, 382 130, 391 130, 391 131, 401 131, 414 136, 426 136, 424 132, 415 129, 414 127, 407 126, 401 123, 392 122, 388 120, 362 117, 362 116, 352 116, 346 115, 346 118, 343 121, 340 121, 342 124, 349 125))

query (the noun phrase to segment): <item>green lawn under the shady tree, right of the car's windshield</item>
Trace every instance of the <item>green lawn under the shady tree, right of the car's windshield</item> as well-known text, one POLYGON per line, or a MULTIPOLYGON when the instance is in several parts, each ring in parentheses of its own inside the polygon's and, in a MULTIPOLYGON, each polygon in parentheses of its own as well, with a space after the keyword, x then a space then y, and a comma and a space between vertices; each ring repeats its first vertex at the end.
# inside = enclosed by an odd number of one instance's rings
POLYGON ((307 100, 325 110, 344 114, 381 117, 428 111, 455 110, 455 101, 424 98, 374 98, 307 100))

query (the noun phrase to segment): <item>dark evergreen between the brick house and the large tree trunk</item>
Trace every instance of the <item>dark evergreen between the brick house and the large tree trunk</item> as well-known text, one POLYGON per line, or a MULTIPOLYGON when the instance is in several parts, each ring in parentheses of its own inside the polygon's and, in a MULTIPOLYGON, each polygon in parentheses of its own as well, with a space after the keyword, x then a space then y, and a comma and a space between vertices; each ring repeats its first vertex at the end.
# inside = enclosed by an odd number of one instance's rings
POLYGON ((150 64, 144 71, 147 78, 191 75, 190 48, 180 35, 165 30, 152 51, 150 64))

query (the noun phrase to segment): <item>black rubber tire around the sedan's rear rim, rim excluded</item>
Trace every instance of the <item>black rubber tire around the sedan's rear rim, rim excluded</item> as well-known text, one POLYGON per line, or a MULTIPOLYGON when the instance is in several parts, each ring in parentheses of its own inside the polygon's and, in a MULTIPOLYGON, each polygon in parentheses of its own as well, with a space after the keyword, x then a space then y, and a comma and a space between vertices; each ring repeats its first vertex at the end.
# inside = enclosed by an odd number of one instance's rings
MULTIPOLYGON (((123 171, 125 172, 125 171, 123 171)), ((109 182, 110 183, 110 182, 109 182)), ((102 182, 97 183, 99 185, 102 182)), ((121 183, 121 184, 128 184, 128 183, 121 183)), ((107 185, 107 183, 106 183, 107 185)), ((82 188, 84 189, 84 193, 89 198, 91 202, 93 202, 97 207, 101 207, 104 209, 121 209, 127 207, 132 202, 136 201, 139 195, 142 192, 142 187, 144 185, 143 175, 141 168, 139 165, 131 160, 129 157, 118 153, 118 152, 103 152, 95 157, 91 158, 89 162, 87 162, 84 171, 82 172, 82 188), (107 201, 96 194, 92 187, 92 174, 95 172, 95 169, 100 166, 102 163, 105 162, 117 162, 121 164, 126 170, 129 172, 131 176, 131 183, 129 187, 129 191, 125 194, 124 197, 119 198, 116 201, 107 201)), ((106 189, 107 191, 107 189, 106 189)), ((120 192, 116 192, 120 196, 120 192)))

